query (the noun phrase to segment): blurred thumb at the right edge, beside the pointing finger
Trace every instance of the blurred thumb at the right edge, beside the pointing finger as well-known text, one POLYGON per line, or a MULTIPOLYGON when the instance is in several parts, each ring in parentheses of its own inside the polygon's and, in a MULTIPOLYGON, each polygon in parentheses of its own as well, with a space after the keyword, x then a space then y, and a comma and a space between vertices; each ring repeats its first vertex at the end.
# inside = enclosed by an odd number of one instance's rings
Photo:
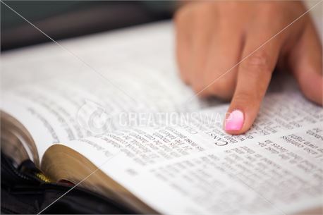
POLYGON ((291 50, 288 63, 305 97, 322 105, 322 44, 312 23, 291 50))

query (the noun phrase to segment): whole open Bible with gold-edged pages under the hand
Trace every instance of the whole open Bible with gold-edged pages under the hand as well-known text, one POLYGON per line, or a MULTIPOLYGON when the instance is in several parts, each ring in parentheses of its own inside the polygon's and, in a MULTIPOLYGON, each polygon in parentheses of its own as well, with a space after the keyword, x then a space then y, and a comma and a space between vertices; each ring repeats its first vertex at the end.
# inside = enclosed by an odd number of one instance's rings
POLYGON ((1 56, 4 152, 140 213, 322 213, 323 110, 277 75, 244 135, 178 78, 171 23, 1 56))

